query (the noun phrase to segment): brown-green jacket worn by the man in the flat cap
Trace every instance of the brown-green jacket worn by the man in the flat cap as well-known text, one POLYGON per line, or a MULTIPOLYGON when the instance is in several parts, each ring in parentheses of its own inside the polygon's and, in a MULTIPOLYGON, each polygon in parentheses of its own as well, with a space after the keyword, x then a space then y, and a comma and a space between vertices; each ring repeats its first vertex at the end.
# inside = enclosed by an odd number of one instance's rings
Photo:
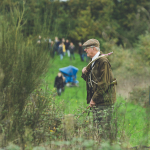
POLYGON ((90 71, 81 76, 86 81, 87 104, 91 99, 96 105, 112 105, 116 101, 115 85, 111 65, 106 57, 97 59, 90 71), (91 88, 89 87, 89 74, 91 73, 91 88))

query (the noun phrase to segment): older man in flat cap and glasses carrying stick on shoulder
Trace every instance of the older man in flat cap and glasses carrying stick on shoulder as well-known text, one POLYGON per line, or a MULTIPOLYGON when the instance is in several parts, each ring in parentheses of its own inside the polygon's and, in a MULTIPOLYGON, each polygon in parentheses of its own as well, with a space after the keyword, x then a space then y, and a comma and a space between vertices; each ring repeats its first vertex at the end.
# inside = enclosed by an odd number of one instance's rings
MULTIPOLYGON (((98 40, 90 39, 83 47, 92 61, 101 56, 98 40)), ((108 59, 96 59, 89 70, 86 67, 82 69, 81 77, 86 81, 87 104, 90 104, 93 111, 94 126, 99 129, 102 138, 108 139, 111 135, 113 104, 116 101, 115 85, 111 84, 115 79, 108 59)))

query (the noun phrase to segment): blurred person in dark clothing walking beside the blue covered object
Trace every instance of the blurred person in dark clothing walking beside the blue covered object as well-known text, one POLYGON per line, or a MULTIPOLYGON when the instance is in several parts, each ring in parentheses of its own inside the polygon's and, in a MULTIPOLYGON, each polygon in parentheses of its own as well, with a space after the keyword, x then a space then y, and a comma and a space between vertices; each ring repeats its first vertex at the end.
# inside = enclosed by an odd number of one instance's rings
POLYGON ((61 72, 58 72, 58 75, 55 77, 54 87, 57 88, 57 94, 60 96, 64 88, 64 80, 61 72))

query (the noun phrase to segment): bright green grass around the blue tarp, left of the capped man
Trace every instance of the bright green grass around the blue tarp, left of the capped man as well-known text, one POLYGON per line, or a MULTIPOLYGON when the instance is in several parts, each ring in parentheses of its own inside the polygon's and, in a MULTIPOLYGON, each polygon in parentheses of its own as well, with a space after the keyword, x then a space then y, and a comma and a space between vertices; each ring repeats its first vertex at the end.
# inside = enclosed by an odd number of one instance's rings
POLYGON ((75 60, 70 60, 68 56, 65 56, 63 60, 60 60, 59 56, 55 56, 50 62, 51 67, 45 77, 45 82, 48 88, 54 88, 54 80, 57 76, 59 68, 67 67, 69 65, 77 67, 79 70, 77 72, 77 80, 79 81, 78 87, 65 87, 65 91, 59 97, 56 97, 56 101, 64 100, 66 108, 65 113, 73 113, 79 106, 86 107, 86 84, 81 78, 82 68, 87 65, 87 62, 81 62, 78 54, 75 54, 75 60))

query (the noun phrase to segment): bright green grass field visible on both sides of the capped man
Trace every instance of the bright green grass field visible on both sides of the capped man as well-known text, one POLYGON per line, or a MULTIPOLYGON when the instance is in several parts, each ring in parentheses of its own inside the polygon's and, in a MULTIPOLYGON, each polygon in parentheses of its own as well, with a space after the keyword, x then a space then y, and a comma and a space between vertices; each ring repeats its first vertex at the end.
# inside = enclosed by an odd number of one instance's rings
MULTIPOLYGON (((77 67, 77 80, 79 87, 66 87, 61 96, 56 96, 56 102, 64 100, 65 114, 75 114, 80 107, 86 108, 86 85, 81 78, 82 68, 87 65, 87 62, 81 62, 78 54, 75 54, 75 60, 70 60, 65 56, 60 60, 59 56, 51 59, 50 69, 45 77, 45 82, 49 89, 54 88, 54 80, 59 71, 59 68, 73 65, 77 67)), ((118 138, 128 141, 129 145, 135 146, 146 144, 150 136, 149 126, 147 122, 146 109, 131 103, 127 103, 122 97, 117 97, 116 113, 118 118, 118 138)))

